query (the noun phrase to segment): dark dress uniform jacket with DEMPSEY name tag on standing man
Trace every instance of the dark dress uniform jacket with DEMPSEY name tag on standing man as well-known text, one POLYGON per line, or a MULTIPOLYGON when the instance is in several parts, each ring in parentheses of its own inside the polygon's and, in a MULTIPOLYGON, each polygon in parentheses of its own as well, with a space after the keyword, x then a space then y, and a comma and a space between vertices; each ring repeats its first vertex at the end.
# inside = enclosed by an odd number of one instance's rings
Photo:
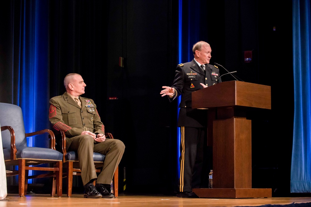
POLYGON ((207 121, 206 110, 192 109, 191 93, 202 89, 200 83, 210 87, 221 82, 219 69, 215 65, 205 64, 206 72, 193 59, 191 62, 179 64, 175 72, 173 85, 175 90, 174 97, 169 101, 173 101, 181 95, 179 104, 178 126, 182 127, 205 127, 207 121))

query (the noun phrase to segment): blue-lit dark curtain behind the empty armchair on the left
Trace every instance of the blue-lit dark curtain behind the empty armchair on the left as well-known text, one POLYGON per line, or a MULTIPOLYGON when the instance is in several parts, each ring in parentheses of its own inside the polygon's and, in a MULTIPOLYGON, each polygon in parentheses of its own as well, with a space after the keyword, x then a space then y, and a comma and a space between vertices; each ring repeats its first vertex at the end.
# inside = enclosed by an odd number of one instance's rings
MULTIPOLYGON (((21 107, 26 133, 49 128, 49 1, 5 1, 1 6, 6 32, 0 36, 5 56, 0 101, 21 107)), ((46 139, 27 142, 49 147, 46 139)))

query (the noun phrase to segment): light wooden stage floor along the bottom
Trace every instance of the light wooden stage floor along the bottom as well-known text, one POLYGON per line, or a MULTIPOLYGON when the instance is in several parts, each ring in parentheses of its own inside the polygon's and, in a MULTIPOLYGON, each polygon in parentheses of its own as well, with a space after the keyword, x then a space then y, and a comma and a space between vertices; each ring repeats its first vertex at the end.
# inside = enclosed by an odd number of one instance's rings
POLYGON ((211 199, 211 198, 177 198, 163 195, 119 195, 112 199, 88 199, 83 194, 72 194, 68 198, 51 197, 45 194, 27 195, 19 197, 18 194, 8 194, 0 201, 3 206, 110 206, 110 207, 233 207, 233 206, 260 206, 260 205, 287 205, 292 203, 309 203, 311 197, 272 197, 272 198, 244 198, 244 199, 211 199))

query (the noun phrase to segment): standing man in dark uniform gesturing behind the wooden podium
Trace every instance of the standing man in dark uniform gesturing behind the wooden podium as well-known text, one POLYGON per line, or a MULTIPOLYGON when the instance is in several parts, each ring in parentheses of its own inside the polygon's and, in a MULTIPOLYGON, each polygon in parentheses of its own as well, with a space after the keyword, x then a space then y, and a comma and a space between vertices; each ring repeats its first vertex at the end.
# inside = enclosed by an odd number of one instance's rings
POLYGON ((203 143, 207 133, 206 110, 192 109, 191 93, 221 82, 219 69, 210 65, 211 46, 203 41, 193 45, 191 62, 177 66, 171 87, 163 86, 160 94, 173 101, 181 95, 178 127, 180 127, 180 178, 177 197, 195 198, 192 188, 201 184, 203 143))

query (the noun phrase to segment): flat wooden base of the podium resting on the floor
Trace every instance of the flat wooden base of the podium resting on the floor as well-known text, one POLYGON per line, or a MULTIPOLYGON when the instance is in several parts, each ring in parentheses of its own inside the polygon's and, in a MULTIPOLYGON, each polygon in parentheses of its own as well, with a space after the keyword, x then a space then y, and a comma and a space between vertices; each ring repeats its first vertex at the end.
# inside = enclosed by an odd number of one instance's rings
POLYGON ((271 188, 193 188, 200 198, 269 198, 271 188))

